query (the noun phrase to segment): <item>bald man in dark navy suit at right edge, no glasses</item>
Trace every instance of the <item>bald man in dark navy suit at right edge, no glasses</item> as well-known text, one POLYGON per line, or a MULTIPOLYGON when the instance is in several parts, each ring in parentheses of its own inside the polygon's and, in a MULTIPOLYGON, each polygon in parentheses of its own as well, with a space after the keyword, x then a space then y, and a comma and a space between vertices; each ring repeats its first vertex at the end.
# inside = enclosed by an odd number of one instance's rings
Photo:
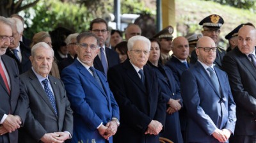
POLYGON ((237 47, 223 58, 234 100, 237 104, 237 123, 230 142, 256 142, 256 30, 243 26, 238 32, 237 47))

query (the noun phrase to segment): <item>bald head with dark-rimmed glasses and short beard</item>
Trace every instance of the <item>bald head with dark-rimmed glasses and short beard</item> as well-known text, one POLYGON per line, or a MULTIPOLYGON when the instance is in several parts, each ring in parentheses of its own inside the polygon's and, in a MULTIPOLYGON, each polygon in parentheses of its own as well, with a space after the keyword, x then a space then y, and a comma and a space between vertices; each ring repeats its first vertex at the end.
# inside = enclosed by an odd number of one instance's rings
POLYGON ((216 58, 216 44, 212 38, 203 36, 196 43, 198 60, 207 66, 211 66, 216 58))

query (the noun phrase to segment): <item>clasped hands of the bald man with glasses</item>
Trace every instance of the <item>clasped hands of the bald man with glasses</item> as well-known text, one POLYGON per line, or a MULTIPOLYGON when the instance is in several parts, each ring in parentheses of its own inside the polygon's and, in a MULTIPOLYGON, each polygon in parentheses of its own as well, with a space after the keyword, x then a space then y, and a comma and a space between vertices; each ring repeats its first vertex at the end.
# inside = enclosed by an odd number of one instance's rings
POLYGON ((219 142, 227 142, 227 140, 229 139, 231 135, 230 130, 228 129, 216 129, 213 133, 212 136, 217 139, 219 142))

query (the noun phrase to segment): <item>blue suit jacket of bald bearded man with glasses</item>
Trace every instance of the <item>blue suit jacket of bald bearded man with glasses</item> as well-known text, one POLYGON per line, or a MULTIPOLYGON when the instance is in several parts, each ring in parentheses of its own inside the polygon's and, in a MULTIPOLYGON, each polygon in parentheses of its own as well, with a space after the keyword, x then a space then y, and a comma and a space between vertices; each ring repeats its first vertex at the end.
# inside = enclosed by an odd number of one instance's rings
POLYGON ((202 64, 182 73, 180 87, 188 110, 187 142, 218 142, 211 134, 216 128, 227 128, 234 133, 236 104, 234 103, 227 73, 214 68, 220 82, 220 93, 213 86, 202 64))

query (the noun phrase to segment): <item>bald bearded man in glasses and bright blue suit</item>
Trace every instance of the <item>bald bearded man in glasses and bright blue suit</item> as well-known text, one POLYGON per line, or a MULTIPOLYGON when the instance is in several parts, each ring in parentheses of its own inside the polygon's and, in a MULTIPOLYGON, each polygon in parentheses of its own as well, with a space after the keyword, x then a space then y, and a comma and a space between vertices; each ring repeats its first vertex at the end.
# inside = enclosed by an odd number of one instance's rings
POLYGON ((197 41, 198 61, 182 73, 181 94, 188 110, 186 142, 228 142, 236 124, 227 74, 214 67, 216 45, 204 36, 197 41))

